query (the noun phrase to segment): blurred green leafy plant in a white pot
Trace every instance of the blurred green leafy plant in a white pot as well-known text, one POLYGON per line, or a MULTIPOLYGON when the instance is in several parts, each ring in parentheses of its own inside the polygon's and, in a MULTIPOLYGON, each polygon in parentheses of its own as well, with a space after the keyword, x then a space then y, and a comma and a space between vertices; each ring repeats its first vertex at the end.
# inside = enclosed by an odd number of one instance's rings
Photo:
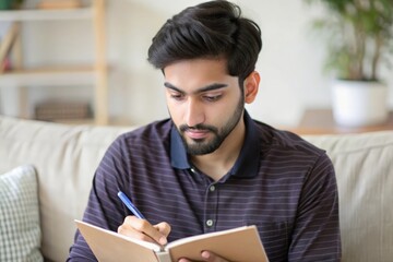
POLYGON ((326 9, 313 27, 325 33, 325 69, 334 72, 333 115, 342 126, 378 124, 388 118, 382 62, 393 47, 392 0, 305 0, 326 9), (353 93, 355 92, 355 93, 353 93), (359 93, 359 94, 358 94, 359 93))

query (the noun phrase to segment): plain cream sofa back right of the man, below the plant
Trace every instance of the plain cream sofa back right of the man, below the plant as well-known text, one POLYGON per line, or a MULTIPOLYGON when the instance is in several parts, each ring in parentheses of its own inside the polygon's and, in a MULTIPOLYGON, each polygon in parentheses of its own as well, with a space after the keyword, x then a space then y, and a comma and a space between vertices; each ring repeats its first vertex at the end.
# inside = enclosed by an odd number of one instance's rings
POLYGON ((392 261, 393 132, 305 138, 335 167, 343 261, 392 261))

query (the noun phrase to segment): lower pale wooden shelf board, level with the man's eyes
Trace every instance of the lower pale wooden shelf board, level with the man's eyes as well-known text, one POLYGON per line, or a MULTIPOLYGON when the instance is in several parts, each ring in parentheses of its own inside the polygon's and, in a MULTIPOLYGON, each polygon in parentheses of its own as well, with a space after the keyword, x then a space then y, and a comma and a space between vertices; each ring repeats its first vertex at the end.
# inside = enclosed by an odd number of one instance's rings
POLYGON ((0 74, 0 85, 14 86, 91 85, 95 80, 92 67, 24 69, 0 74))

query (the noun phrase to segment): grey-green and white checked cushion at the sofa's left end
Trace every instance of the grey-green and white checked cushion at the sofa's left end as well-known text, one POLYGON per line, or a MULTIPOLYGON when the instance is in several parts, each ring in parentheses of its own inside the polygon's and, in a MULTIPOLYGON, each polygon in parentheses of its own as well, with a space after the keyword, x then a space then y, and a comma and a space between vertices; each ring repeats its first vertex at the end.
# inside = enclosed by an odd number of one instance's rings
POLYGON ((40 234, 34 168, 0 175, 0 261, 43 261, 40 234))

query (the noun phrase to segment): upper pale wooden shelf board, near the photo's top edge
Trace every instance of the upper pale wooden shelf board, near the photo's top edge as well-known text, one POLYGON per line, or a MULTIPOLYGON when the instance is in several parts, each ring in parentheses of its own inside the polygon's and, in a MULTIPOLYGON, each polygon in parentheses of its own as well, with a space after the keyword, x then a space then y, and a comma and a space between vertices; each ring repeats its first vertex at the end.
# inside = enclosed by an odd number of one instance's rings
POLYGON ((56 21, 56 20, 87 20, 93 17, 92 8, 63 9, 63 10, 12 10, 0 11, 0 21, 56 21))

